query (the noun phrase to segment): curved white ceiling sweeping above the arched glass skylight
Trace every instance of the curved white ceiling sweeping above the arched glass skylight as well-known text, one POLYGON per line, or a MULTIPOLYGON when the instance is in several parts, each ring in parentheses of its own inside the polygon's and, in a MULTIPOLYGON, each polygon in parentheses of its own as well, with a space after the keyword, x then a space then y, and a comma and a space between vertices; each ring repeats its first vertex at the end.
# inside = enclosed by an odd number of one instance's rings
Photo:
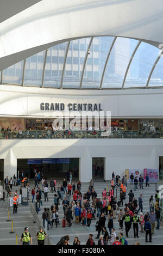
POLYGON ((1 58, 11 54, 83 36, 124 36, 159 44, 162 23, 161 0, 42 0, 0 23, 0 69, 1 58))

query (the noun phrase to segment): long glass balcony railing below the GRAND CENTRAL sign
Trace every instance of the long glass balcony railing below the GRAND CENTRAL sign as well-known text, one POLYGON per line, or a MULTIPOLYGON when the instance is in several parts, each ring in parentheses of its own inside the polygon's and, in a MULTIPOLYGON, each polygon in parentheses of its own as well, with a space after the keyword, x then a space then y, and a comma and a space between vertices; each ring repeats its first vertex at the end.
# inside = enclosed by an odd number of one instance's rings
POLYGON ((0 139, 163 138, 163 131, 1 131, 0 139))

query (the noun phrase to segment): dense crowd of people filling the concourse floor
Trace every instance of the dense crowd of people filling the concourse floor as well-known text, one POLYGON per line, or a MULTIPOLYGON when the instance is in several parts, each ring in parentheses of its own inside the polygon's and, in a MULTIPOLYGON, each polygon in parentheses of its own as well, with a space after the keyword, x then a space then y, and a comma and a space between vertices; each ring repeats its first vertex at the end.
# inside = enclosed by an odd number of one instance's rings
MULTIPOLYGON (((89 182, 87 192, 82 193, 82 183, 80 181, 73 181, 73 175, 71 172, 67 176, 67 179, 63 179, 62 182, 57 182, 57 180, 54 178, 49 181, 49 184, 47 179, 44 176, 41 176, 40 171, 36 172, 34 177, 35 186, 32 188, 31 194, 32 203, 35 199, 38 204, 36 209, 37 214, 40 211, 40 206, 43 204, 43 199, 45 202, 46 200, 48 202, 48 193, 54 193, 53 205, 49 206, 49 208, 44 208, 44 211, 42 212, 43 227, 45 227, 45 222, 47 222, 47 229, 49 229, 49 227, 53 228, 53 224, 55 224, 56 228, 61 224, 59 218, 61 210, 59 210, 59 205, 62 205, 62 212, 64 213, 62 227, 66 227, 66 225, 67 227, 71 227, 73 223, 76 225, 81 224, 83 226, 90 227, 91 221, 97 220, 95 225, 97 236, 95 239, 98 239, 98 245, 127 245, 127 238, 129 237, 129 231, 132 225, 134 233, 133 235, 135 238, 139 239, 139 232, 145 232, 146 242, 152 242, 154 230, 160 229, 159 191, 157 190, 155 192, 155 197, 152 195, 149 198, 149 212, 143 214, 142 193, 140 193, 138 200, 135 199, 133 190, 127 192, 126 176, 123 176, 121 182, 120 176, 118 176, 118 179, 117 176, 118 175, 115 176, 113 172, 109 189, 108 187, 107 189, 104 187, 101 196, 97 196, 93 179, 91 179, 89 182), (120 196, 117 197, 115 193, 116 186, 118 187, 118 192, 120 193, 120 196), (114 228, 114 220, 116 218, 119 223, 119 234, 115 233, 114 228), (155 223, 157 224, 156 228, 155 223), (124 232, 122 232, 124 230, 125 236, 124 232)), ((10 180, 12 180, 12 178, 10 178, 10 180)), ((22 187, 24 186, 28 188, 29 195, 30 188, 28 177, 25 176, 21 183, 20 194, 22 187)), ((139 183, 141 183, 141 180, 139 183)), ((4 180, 4 191, 8 191, 9 184, 10 182, 7 176, 4 180)), ((131 184, 134 185, 134 182, 131 182, 131 184)), ((146 184, 146 186, 148 185, 146 184)), ((140 188, 143 189, 142 185, 140 188)), ((12 186, 10 187, 10 190, 12 190, 12 186)), ((16 204, 17 194, 18 193, 16 191, 14 194, 16 204)), ((16 206, 14 212, 15 210, 17 212, 16 206)), ((93 235, 90 234, 86 245, 95 244, 92 237, 93 235)), ((68 238, 61 239, 59 244, 68 245, 68 240, 68 238)), ((78 237, 75 237, 74 244, 80 245, 78 237)))

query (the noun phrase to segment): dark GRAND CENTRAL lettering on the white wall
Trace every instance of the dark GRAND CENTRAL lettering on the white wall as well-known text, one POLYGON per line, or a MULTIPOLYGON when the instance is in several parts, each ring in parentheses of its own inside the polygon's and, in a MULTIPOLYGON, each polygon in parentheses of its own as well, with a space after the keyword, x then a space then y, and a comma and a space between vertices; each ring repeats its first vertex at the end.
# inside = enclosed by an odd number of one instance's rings
MULTIPOLYGON (((102 111, 101 103, 68 103, 68 111, 102 111)), ((41 102, 40 110, 42 111, 64 111, 64 103, 41 102)))

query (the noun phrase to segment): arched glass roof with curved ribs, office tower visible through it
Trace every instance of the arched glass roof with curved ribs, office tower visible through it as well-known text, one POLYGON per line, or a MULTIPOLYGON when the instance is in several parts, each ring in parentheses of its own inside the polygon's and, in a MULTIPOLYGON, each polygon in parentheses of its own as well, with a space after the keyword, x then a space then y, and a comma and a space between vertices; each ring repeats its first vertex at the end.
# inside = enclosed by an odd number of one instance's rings
POLYGON ((55 45, 0 71, 1 84, 68 89, 163 86, 160 49, 146 42, 90 36, 55 45))

